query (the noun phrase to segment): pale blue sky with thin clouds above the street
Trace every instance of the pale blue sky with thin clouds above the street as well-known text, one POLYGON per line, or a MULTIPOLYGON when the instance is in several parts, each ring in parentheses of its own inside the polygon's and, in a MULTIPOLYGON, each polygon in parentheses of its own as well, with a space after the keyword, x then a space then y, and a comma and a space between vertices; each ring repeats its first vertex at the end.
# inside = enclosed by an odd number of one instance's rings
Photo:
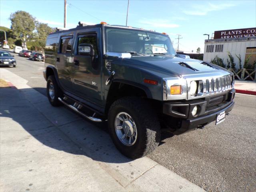
MULTIPOLYGON (((67 28, 79 21, 126 24, 128 0, 67 0, 67 28)), ((39 22, 63 28, 64 0, 0 0, 0 26, 10 28, 10 14, 29 12, 39 22)), ((204 40, 217 30, 256 27, 256 0, 130 0, 128 26, 166 32, 174 48, 204 50, 204 40)))

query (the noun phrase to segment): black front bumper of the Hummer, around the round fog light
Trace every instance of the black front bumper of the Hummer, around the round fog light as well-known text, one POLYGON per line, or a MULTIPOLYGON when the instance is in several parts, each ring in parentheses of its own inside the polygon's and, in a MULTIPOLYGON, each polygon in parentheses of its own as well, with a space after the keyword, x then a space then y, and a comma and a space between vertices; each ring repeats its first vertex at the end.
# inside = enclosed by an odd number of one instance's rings
MULTIPOLYGON (((218 113, 226 111, 226 114, 234 107, 234 95, 235 90, 232 89, 229 92, 223 93, 224 101, 216 106, 208 106, 209 98, 184 101, 184 102, 172 102, 164 103, 163 113, 172 118, 179 120, 180 125, 174 132, 174 134, 182 134, 188 130, 194 130, 198 126, 204 126, 210 122, 216 120, 218 113), (200 112, 194 117, 191 112, 194 106, 200 108, 200 112)), ((171 125, 170 125, 171 126, 171 125)))

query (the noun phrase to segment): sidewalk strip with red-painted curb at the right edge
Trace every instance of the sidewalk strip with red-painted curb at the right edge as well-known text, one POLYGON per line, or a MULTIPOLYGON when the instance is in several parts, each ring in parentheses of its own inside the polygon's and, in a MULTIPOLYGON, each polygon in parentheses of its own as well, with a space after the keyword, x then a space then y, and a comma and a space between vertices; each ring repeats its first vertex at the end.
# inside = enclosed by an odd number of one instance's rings
POLYGON ((256 95, 256 82, 235 80, 235 89, 237 93, 256 95))

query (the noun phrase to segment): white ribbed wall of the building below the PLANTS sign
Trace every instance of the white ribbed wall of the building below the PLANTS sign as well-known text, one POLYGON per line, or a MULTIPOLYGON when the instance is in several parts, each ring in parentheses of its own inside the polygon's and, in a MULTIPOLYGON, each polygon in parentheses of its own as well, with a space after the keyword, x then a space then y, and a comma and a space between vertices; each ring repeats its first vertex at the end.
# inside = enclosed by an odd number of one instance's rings
POLYGON ((204 44, 204 61, 210 62, 215 56, 219 58, 224 58, 224 64, 227 63, 228 59, 228 51, 234 57, 234 62, 236 63, 236 68, 239 68, 238 56, 241 55, 242 65, 244 64, 244 59, 246 55, 246 48, 248 47, 256 47, 256 38, 242 38, 235 40, 225 40, 225 39, 215 39, 215 40, 205 40, 204 44), (207 45, 214 45, 213 52, 206 52, 207 45), (222 52, 215 52, 216 45, 223 45, 222 52))

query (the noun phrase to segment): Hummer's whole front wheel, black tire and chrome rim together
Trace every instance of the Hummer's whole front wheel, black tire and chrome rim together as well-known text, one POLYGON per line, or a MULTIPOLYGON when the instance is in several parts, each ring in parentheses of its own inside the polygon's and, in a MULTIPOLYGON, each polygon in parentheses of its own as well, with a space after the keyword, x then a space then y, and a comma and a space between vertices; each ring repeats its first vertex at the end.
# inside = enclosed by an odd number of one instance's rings
POLYGON ((132 159, 152 152, 160 142, 156 113, 141 98, 116 100, 108 113, 108 128, 116 148, 132 159))

